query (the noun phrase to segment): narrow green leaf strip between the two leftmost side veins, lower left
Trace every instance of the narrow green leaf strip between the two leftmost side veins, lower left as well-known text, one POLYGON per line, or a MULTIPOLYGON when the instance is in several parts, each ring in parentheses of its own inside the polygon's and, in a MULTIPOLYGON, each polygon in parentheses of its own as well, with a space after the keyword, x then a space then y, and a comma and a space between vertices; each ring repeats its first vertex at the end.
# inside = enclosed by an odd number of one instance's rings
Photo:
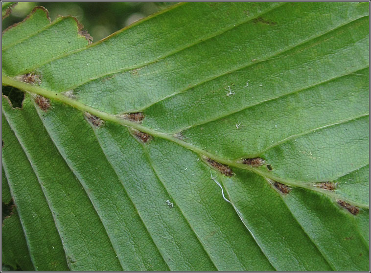
POLYGON ((36 270, 68 270, 61 240, 37 177, 4 116, 1 126, 4 143, 7 143, 2 149, 2 163, 18 209, 32 263, 36 270), (24 184, 24 181, 28 183, 24 184), (32 199, 38 202, 29 202, 32 199))

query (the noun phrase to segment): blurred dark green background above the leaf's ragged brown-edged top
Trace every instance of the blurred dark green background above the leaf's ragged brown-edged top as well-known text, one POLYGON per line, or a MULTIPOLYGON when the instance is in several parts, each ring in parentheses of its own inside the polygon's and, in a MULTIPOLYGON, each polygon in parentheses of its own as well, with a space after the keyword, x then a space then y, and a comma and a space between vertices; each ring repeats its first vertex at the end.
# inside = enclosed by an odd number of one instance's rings
POLYGON ((35 6, 44 6, 53 21, 58 15, 73 15, 99 41, 141 18, 177 2, 19 2, 2 21, 2 30, 22 21, 35 6))

